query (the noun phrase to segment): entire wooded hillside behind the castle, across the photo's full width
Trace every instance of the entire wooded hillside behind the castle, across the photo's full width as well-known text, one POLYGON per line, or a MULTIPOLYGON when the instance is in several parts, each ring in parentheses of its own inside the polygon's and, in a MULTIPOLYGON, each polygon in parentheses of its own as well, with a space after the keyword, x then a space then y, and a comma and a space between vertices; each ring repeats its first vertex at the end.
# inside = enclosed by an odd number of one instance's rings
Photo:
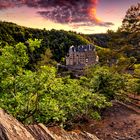
MULTIPOLYGON (((106 34, 83 35, 63 30, 40 30, 26 28, 14 23, 0 22, 0 40, 2 46, 6 43, 15 45, 18 42, 26 43, 29 38, 42 39, 41 47, 30 54, 29 69, 34 69, 38 62, 49 56, 53 61, 65 61, 65 56, 71 45, 92 44, 97 45, 100 63, 112 65, 114 62, 125 59, 125 63, 139 63, 139 36, 140 32, 128 33, 108 31, 106 34), (100 47, 98 47, 100 46, 100 47), (103 49, 102 49, 103 48, 103 49), (50 51, 46 49, 50 49, 50 51), (50 53, 48 53, 50 52, 50 53), (130 59, 130 60, 129 60, 130 59)), ((49 63, 54 64, 54 62, 49 63)), ((114 63, 115 64, 115 63, 114 63)), ((126 66, 129 68, 129 65, 126 66)))

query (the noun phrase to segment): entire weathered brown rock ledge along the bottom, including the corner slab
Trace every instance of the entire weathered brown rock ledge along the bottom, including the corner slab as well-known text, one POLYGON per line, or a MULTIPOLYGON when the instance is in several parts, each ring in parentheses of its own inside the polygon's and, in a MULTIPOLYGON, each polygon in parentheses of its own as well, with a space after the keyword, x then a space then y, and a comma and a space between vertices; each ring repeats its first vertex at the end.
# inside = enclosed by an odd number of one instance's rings
POLYGON ((99 140, 93 134, 81 131, 66 132, 43 124, 24 126, 0 109, 0 140, 99 140), (57 130, 57 131, 55 131, 57 130))

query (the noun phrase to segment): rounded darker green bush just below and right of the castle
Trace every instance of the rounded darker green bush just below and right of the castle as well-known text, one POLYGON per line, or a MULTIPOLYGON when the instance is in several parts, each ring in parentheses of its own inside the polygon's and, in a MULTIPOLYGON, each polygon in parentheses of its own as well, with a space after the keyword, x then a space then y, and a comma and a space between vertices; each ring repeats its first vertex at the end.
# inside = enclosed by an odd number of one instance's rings
MULTIPOLYGON (((85 71, 88 79, 85 85, 93 93, 102 94, 109 100, 115 99, 120 94, 123 94, 125 88, 125 78, 113 72, 109 67, 93 67, 85 71)), ((83 84, 83 78, 82 84, 83 84)))

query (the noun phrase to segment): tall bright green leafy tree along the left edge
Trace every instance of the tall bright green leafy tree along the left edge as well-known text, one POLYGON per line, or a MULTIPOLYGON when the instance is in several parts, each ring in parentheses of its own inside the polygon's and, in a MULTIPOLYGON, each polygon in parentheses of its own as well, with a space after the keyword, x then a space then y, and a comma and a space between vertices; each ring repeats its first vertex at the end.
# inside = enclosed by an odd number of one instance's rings
MULTIPOLYGON (((40 43, 40 41, 38 41, 37 44, 33 45, 33 41, 31 42, 32 44, 29 43, 29 46, 31 45, 32 48, 40 43)), ((35 40, 35 42, 37 42, 37 40, 35 40)), ((26 112, 26 103, 30 100, 29 97, 31 94, 34 93, 33 90, 35 85, 33 86, 33 84, 37 83, 34 79, 36 73, 32 73, 31 71, 27 71, 25 69, 28 62, 29 57, 27 55, 27 46, 23 43, 18 43, 14 47, 7 45, 1 49, 1 107, 19 118, 22 116, 19 115, 19 112, 26 112), (26 87, 27 84, 30 86, 26 87), (31 91, 30 94, 29 91, 31 91)))

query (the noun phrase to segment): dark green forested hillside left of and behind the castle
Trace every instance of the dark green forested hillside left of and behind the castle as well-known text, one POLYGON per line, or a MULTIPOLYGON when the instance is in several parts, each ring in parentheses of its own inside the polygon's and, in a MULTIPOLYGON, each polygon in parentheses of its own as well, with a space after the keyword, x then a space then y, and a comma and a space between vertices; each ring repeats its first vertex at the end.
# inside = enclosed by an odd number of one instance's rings
POLYGON ((19 26, 14 23, 0 22, 0 42, 4 46, 6 43, 15 45, 18 42, 26 43, 31 39, 41 39, 41 47, 32 54, 30 63, 34 64, 40 60, 41 54, 45 54, 47 48, 51 50, 52 59, 60 62, 65 57, 71 45, 90 44, 86 38, 75 32, 64 30, 40 30, 19 26))

